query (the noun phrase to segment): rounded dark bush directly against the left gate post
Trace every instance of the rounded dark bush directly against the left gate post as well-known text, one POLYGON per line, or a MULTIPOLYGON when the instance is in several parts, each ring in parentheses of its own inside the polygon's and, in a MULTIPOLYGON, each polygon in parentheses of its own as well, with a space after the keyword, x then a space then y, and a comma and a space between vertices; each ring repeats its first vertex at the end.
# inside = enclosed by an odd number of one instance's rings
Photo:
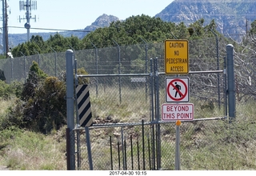
POLYGON ((66 125, 66 88, 64 82, 47 77, 34 90, 23 109, 26 127, 44 134, 66 125))

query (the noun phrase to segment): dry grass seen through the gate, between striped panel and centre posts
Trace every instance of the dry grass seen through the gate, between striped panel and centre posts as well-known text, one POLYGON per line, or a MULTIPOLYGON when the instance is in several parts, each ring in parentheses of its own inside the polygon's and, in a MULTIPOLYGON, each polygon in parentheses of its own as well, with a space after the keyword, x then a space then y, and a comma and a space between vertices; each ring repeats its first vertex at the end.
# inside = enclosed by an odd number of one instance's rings
POLYGON ((146 99, 145 90, 122 87, 121 95, 118 87, 99 87, 100 93, 96 96, 90 91, 90 102, 94 118, 109 116, 118 122, 140 122, 142 118, 150 120, 150 98, 146 99), (101 94, 107 92, 108 94, 101 94))

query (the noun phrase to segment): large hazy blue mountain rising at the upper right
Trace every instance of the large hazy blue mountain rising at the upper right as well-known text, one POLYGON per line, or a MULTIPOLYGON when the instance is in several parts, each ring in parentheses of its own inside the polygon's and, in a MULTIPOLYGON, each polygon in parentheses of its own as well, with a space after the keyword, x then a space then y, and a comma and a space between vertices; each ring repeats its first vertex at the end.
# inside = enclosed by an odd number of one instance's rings
POLYGON ((246 34, 250 23, 256 19, 256 1, 174 0, 155 17, 166 22, 184 22, 186 25, 200 18, 204 18, 207 25, 214 19, 222 34, 246 34))

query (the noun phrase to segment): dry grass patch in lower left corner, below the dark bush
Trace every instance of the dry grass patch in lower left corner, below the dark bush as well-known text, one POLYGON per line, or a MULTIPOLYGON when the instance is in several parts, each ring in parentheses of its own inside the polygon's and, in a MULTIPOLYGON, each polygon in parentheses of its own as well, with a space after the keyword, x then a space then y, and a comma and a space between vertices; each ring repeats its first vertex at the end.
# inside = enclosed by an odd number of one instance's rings
POLYGON ((0 163, 10 170, 66 170, 66 142, 56 135, 12 129, 0 163))

